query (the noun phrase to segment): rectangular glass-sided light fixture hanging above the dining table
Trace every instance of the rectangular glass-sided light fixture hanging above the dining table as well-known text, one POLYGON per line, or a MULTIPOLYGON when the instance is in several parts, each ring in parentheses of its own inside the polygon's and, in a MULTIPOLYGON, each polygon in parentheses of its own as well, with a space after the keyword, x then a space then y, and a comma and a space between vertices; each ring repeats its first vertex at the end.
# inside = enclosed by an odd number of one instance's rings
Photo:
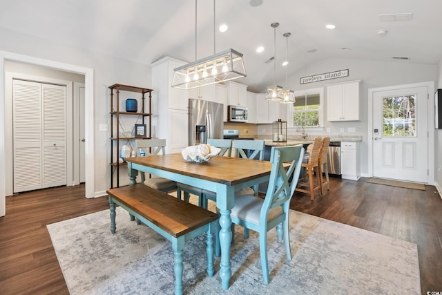
POLYGON ((175 68, 172 87, 192 89, 241 77, 246 77, 242 53, 230 48, 175 68))

